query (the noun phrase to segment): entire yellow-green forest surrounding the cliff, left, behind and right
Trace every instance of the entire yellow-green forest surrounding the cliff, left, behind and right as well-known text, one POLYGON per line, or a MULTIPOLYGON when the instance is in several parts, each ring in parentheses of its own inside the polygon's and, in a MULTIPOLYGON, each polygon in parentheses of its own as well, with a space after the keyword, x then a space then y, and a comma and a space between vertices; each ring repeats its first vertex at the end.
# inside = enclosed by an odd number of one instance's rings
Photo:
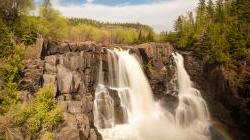
POLYGON ((209 64, 226 66, 237 84, 250 84, 249 74, 237 74, 240 66, 250 65, 249 0, 199 0, 195 12, 179 16, 174 30, 162 33, 141 23, 66 18, 50 0, 40 7, 33 0, 0 0, 0 140, 18 139, 21 134, 26 139, 53 139, 53 129, 62 120, 52 86, 41 88, 28 103, 20 100, 23 60, 36 51, 39 37, 107 46, 170 42, 177 50, 197 52, 209 64), (34 9, 39 9, 37 16, 29 14, 34 9))

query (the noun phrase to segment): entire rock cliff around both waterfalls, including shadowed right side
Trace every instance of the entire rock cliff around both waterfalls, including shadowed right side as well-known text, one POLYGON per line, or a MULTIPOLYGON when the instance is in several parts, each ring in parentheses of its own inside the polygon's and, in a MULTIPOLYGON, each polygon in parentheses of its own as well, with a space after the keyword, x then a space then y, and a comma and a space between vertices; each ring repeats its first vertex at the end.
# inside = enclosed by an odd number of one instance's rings
MULTIPOLYGON (((178 104, 176 73, 169 44, 148 43, 134 46, 98 46, 91 43, 44 42, 37 59, 26 60, 23 79, 19 88, 26 91, 23 99, 29 100, 37 89, 52 83, 56 87, 55 99, 63 109, 63 123, 55 130, 58 140, 101 140, 94 126, 93 101, 100 60, 103 71, 108 74, 107 49, 130 49, 136 53, 151 84, 154 97, 173 111, 178 104)), ((211 117, 222 124, 234 138, 247 139, 250 134, 249 86, 238 88, 228 78, 223 66, 208 65, 194 52, 180 52, 185 67, 194 85, 208 103, 211 117)), ((105 79, 104 79, 105 80, 105 79)), ((121 118, 121 107, 116 93, 117 123, 121 118)))

